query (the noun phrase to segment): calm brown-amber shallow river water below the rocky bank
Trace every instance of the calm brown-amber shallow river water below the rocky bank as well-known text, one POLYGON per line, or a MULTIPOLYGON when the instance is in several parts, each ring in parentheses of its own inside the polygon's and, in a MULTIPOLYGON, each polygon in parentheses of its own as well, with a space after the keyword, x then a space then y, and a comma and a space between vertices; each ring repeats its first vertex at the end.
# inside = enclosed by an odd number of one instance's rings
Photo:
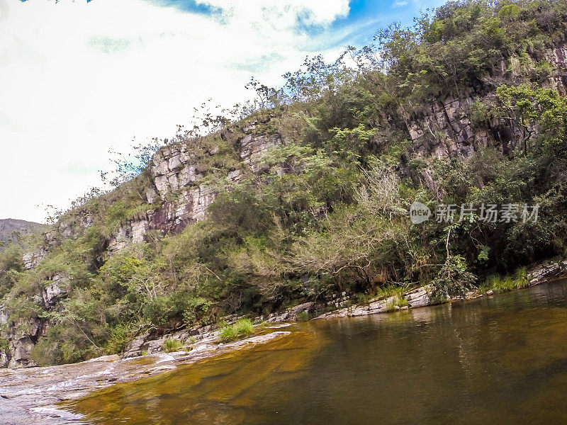
POLYGON ((566 424, 567 281, 298 324, 72 409, 94 424, 566 424))

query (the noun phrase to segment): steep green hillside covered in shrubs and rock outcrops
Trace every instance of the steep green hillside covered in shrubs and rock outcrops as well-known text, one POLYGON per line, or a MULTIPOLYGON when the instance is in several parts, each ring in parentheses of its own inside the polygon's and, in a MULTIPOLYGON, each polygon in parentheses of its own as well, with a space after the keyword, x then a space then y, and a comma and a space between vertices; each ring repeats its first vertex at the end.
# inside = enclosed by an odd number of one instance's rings
POLYGON ((566 23, 565 1, 451 1, 179 135, 2 254, 0 364, 344 293, 430 283, 443 302, 565 255, 566 23))

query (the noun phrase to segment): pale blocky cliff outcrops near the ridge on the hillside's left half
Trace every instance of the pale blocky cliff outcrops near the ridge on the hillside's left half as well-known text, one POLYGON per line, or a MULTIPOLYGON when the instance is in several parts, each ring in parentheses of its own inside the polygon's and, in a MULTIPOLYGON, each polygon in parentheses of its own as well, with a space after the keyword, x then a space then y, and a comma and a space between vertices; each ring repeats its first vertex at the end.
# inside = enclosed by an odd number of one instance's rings
MULTIPOLYGON (((189 145, 166 146, 154 155, 149 164, 149 187, 144 196, 151 207, 137 217, 129 220, 114 232, 108 240, 108 252, 113 253, 128 244, 144 242, 147 232, 156 230, 162 234, 181 232, 187 225, 202 220, 206 209, 212 204, 223 188, 240 181, 247 174, 261 171, 262 159, 272 147, 283 143, 278 132, 257 130, 258 125, 269 123, 271 117, 250 120, 242 126, 242 135, 235 142, 235 169, 228 171, 223 179, 214 183, 206 182, 208 174, 200 170, 200 162, 213 161, 219 154, 218 147, 197 156, 189 145)), ((228 137, 225 130, 221 138, 228 137)), ((64 239, 76 239, 93 224, 93 217, 87 211, 79 210, 73 220, 57 222, 44 233, 44 243, 23 256, 27 269, 35 268, 47 255, 50 247, 60 244, 64 239)))

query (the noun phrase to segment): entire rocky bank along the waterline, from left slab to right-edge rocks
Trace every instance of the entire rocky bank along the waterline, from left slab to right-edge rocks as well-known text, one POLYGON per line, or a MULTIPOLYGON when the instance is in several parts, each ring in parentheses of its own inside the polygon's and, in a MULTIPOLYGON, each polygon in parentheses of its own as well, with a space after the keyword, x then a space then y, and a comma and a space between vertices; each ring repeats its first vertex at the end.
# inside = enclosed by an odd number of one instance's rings
MULTIPOLYGON (((529 285, 538 285, 555 278, 567 276, 567 259, 561 261, 546 261, 538 263, 529 269, 529 285)), ((490 291, 486 295, 491 295, 490 291)), ((468 293, 466 298, 484 296, 479 293, 468 293)), ((322 314, 314 314, 315 319, 332 317, 357 317, 377 314, 392 310, 432 305, 427 286, 408 290, 403 294, 407 302, 402 307, 395 305, 395 297, 373 299, 364 305, 350 305, 322 314)), ((457 301, 457 300, 451 300, 457 301)), ((328 304, 343 305, 349 302, 349 297, 342 294, 328 304)), ((63 425, 82 423, 82 416, 66 412, 57 403, 64 400, 74 400, 84 395, 109 387, 118 382, 130 382, 151 375, 157 375, 176 369, 182 364, 217 356, 220 353, 264 344, 273 339, 291 334, 290 322, 298 318, 298 314, 313 314, 317 308, 313 302, 304 303, 290 310, 267 317, 257 317, 255 324, 264 323, 257 327, 254 336, 228 344, 219 344, 218 330, 210 325, 182 329, 159 339, 147 339, 140 336, 135 339, 120 358, 119 356, 104 356, 91 361, 69 365, 50 366, 46 368, 0 369, 0 418, 1 424, 10 425, 63 425), (174 353, 162 352, 166 339, 177 339, 184 342, 180 351, 174 353), (141 355, 144 353, 145 355, 141 355)), ((238 317, 228 317, 228 322, 235 322, 238 317)))

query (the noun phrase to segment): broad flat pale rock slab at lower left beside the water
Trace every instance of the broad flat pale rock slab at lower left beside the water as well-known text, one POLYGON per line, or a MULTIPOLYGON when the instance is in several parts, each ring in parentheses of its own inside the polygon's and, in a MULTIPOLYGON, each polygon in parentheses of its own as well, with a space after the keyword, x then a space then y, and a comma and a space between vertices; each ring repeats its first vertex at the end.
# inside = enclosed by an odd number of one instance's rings
POLYGON ((82 363, 0 370, 0 424, 64 425, 81 424, 82 416, 65 411, 57 403, 74 400, 118 382, 130 382, 176 369, 179 365, 217 356, 221 353, 264 344, 291 332, 283 327, 264 329, 241 341, 217 344, 203 339, 174 353, 155 353, 121 359, 103 356, 82 363))

